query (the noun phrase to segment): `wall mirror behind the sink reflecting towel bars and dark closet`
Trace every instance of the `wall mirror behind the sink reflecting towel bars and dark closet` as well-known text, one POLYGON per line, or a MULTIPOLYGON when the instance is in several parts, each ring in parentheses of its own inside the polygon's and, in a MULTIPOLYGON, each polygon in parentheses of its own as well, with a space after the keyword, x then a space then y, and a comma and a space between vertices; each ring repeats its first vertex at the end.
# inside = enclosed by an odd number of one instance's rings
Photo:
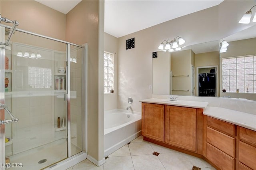
POLYGON ((180 51, 158 51, 152 59, 152 93, 219 96, 218 50, 219 41, 214 41, 182 47, 180 51))

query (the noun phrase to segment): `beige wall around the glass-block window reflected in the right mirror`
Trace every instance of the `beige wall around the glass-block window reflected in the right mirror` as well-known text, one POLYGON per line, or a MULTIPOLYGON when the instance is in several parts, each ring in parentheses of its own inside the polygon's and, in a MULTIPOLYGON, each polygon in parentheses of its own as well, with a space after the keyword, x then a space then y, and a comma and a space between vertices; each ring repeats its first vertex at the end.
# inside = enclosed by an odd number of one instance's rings
MULTIPOLYGON (((246 55, 256 55, 256 38, 228 42, 228 50, 225 53, 220 53, 220 73, 222 73, 222 59, 229 57, 239 57, 246 55)), ((245 98, 256 100, 255 93, 223 93, 222 92, 222 74, 220 74, 220 96, 231 96, 234 98, 245 98)))

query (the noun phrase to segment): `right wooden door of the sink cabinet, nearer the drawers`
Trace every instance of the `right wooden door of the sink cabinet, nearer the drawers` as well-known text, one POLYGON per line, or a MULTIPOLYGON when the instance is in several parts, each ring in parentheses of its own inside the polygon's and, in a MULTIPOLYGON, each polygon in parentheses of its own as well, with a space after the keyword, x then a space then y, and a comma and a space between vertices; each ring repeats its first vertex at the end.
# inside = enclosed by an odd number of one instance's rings
POLYGON ((196 109, 166 107, 166 142, 196 151, 196 109))

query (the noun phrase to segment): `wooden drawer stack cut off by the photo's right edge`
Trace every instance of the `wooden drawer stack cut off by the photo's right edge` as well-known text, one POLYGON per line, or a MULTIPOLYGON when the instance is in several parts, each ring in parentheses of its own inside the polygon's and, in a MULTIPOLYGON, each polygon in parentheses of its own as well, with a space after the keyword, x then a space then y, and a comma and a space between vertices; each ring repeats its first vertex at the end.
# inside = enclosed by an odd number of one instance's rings
POLYGON ((238 129, 238 169, 256 170, 256 131, 244 127, 238 129))

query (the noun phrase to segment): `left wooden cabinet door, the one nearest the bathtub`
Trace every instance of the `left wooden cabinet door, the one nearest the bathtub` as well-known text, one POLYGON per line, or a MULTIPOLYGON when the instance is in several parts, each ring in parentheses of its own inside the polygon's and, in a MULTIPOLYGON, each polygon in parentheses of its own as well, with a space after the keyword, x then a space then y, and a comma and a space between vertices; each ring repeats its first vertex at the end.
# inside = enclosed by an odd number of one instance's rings
POLYGON ((164 105, 142 103, 142 136, 164 142, 164 105))

